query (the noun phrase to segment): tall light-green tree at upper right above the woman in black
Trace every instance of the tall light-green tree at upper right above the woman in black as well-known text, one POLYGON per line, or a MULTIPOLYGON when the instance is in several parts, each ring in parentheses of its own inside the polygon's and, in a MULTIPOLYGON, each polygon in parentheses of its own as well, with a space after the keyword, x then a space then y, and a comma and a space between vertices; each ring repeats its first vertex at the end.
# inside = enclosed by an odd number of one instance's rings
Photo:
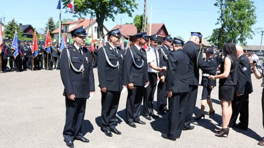
POLYGON ((214 4, 219 7, 220 17, 216 25, 220 28, 213 30, 207 37, 211 43, 220 47, 227 40, 246 45, 246 39, 252 39, 252 26, 256 23, 256 7, 251 0, 217 0, 214 4))

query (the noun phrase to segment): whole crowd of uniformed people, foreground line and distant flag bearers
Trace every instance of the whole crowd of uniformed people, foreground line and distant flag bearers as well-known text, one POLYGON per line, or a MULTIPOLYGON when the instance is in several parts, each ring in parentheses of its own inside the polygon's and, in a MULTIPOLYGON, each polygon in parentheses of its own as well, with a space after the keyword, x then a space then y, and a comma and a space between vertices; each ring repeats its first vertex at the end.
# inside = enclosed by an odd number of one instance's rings
MULTIPOLYGON (((213 45, 204 50, 205 58, 202 58, 202 35, 199 32, 192 32, 186 43, 180 38, 166 36, 160 48, 157 48, 157 35, 148 37, 146 32, 141 32, 134 35, 136 39, 134 45, 126 50, 119 47, 121 37, 119 29, 111 30, 107 34, 108 43, 100 48, 96 47, 94 51, 90 51, 90 45, 85 44, 87 33, 82 26, 71 31, 71 36, 73 44, 60 50, 58 42, 55 42, 50 53, 40 42, 39 55, 36 58, 31 54, 30 41, 23 43, 19 41, 20 52, 16 58, 12 57, 10 46, 12 42, 4 45, 1 53, 4 73, 7 57, 11 71, 60 70, 66 99, 66 123, 63 131, 66 146, 73 148, 74 140, 89 142, 82 134, 82 122, 86 100, 91 98, 95 91, 93 68, 97 68, 101 92, 101 130, 109 137, 112 133, 121 134, 121 131, 116 129, 116 113, 121 92, 128 91, 126 102, 128 126, 136 128, 136 124, 146 124, 140 119, 142 102, 142 116, 145 119, 159 117, 158 114, 154 114, 156 87, 155 110, 160 114, 168 114, 169 130, 161 136, 176 141, 180 138, 182 130, 194 129, 191 121, 200 85, 199 69, 202 71, 203 89, 200 96, 200 111, 195 120, 205 117, 206 104, 209 106, 207 115, 215 114, 211 92, 219 85, 222 128, 215 135, 227 137, 229 128, 248 129, 248 98, 253 92, 251 74, 255 74, 258 79, 262 78, 264 64, 258 71, 255 60, 252 56, 244 54, 242 46, 226 41, 223 44, 222 55, 217 51, 218 47, 213 45), (147 40, 150 46, 145 50, 142 47, 147 40), (219 79, 219 84, 216 83, 216 79, 219 79), (236 124, 239 114, 240 122, 236 124)), ((264 101, 262 106, 264 111, 264 101)), ((264 140, 258 144, 264 146, 264 140)))

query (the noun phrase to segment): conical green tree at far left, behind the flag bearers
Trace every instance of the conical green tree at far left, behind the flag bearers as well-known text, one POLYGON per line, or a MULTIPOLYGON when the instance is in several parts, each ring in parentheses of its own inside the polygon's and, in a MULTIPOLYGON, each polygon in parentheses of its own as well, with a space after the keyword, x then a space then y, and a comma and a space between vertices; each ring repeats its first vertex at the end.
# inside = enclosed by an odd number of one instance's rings
POLYGON ((21 26, 15 21, 15 19, 12 19, 11 21, 7 22, 7 25, 5 26, 5 38, 14 38, 16 29, 18 31, 18 39, 22 39, 23 32, 20 30, 21 26))

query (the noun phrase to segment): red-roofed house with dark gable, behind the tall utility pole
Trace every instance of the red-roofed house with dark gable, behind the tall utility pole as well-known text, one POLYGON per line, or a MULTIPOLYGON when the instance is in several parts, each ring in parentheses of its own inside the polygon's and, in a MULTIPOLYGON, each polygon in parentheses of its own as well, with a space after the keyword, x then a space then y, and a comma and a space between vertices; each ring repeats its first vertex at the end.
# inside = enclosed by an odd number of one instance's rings
MULTIPOLYGON (((129 38, 129 40, 132 41, 132 45, 135 43, 134 35, 137 34, 137 29, 134 24, 115 25, 111 30, 117 29, 117 28, 120 29, 120 32, 124 38, 126 39, 129 38)), ((152 23, 151 26, 150 24, 148 24, 146 30, 147 30, 148 36, 157 34, 158 46, 161 46, 163 42, 163 38, 169 35, 164 23, 152 23), (150 27, 151 27, 151 31, 150 31, 150 27)))

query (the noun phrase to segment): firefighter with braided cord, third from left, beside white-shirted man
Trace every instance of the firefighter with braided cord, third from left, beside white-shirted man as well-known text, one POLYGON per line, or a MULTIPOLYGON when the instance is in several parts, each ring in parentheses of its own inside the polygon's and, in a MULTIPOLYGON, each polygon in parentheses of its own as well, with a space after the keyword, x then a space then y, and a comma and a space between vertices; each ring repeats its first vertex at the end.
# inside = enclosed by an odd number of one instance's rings
POLYGON ((139 119, 140 108, 145 94, 144 86, 149 83, 147 54, 142 48, 148 39, 146 32, 135 35, 135 44, 126 50, 124 65, 124 84, 128 85, 126 104, 127 123, 136 128, 135 123, 146 124, 139 119))

